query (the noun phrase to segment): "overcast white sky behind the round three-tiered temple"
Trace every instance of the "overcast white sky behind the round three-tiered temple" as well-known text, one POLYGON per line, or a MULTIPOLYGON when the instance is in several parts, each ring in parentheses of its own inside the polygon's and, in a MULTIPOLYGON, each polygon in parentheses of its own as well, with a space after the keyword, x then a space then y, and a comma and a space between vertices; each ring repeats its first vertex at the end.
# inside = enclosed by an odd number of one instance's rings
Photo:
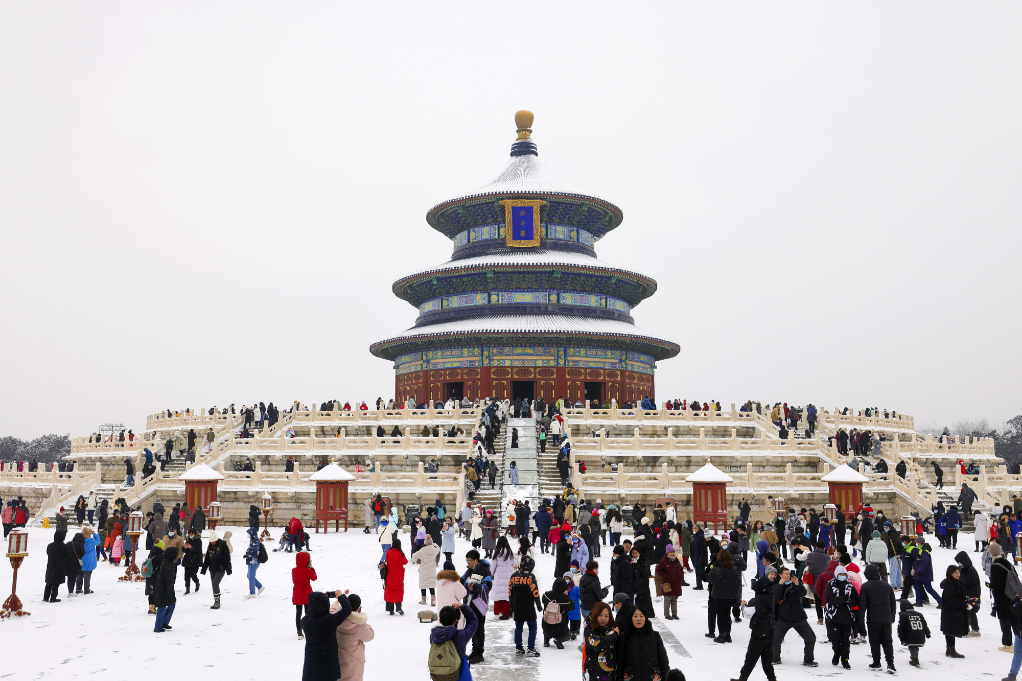
POLYGON ((374 400, 428 208, 541 158, 657 398, 1022 412, 1017 3, 0 4, 0 436, 374 400))

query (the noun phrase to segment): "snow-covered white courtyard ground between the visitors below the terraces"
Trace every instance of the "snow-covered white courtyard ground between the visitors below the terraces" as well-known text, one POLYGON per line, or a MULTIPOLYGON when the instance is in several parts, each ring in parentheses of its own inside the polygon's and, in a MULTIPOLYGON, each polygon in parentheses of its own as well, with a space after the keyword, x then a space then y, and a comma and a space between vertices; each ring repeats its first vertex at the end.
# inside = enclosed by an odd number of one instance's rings
MULTIPOLYGON (((92 595, 67 598, 63 587, 60 603, 42 602, 43 574, 46 565, 46 545, 52 530, 30 529, 29 557, 18 573, 18 594, 31 617, 12 618, 0 622, 0 678, 125 678, 137 674, 166 674, 173 669, 177 678, 252 678, 298 679, 301 675, 304 641, 294 633, 294 608, 291 605, 290 570, 294 556, 270 553, 270 561, 260 568, 260 581, 266 591, 253 599, 244 600, 247 593, 244 560, 244 529, 224 528, 234 532, 234 574, 222 583, 223 607, 211 610, 213 603, 208 576, 198 593, 184 595, 184 573, 178 571, 178 606, 172 624, 174 630, 160 635, 152 633, 152 616, 146 614, 147 603, 142 583, 123 584, 117 578, 124 565, 114 568, 99 563, 93 573, 92 595)), ((279 530, 274 536, 279 537, 279 530)), ((207 534, 207 533, 206 533, 207 534)), ((403 535, 403 539, 408 535, 403 535)), ((407 542, 406 542, 407 544, 407 542)), ((931 544, 936 545, 935 541, 931 544)), ((272 546, 268 545, 268 548, 272 546)), ((467 542, 459 540, 455 563, 464 569, 467 542)), ((972 551, 972 537, 963 535, 959 549, 972 551)), ((407 547, 406 547, 407 550, 407 547)), ((934 573, 943 575, 944 566, 954 560, 949 549, 934 548, 934 573)), ((382 589, 376 572, 379 549, 374 536, 354 529, 347 534, 313 535, 313 565, 319 574, 314 586, 319 589, 351 589, 363 599, 363 611, 376 631, 376 640, 367 647, 366 679, 408 678, 426 679, 428 634, 432 625, 420 624, 415 618, 418 605, 418 574, 409 565, 405 581, 405 617, 388 617, 383 607, 382 589)), ((978 554, 971 553, 978 557, 978 554)), ((601 576, 609 581, 610 551, 605 550, 601 576)), ((978 561, 977 561, 978 564, 978 561)), ((554 561, 540 555, 536 574, 541 589, 549 588, 553 579, 554 561)), ((691 580, 690 580, 691 581, 691 580)), ((939 579, 938 579, 939 581, 939 579)), ((8 560, 0 566, 0 598, 10 592, 11 568, 8 560)), ((694 584, 694 582, 693 582, 694 584)), ((745 597, 751 595, 746 587, 745 597)), ((735 624, 734 643, 716 644, 705 638, 706 592, 685 589, 679 600, 678 621, 666 622, 660 617, 662 607, 655 603, 658 618, 655 627, 661 632, 672 667, 680 668, 690 680, 730 679, 738 676, 749 637, 746 623, 735 624)), ((989 594, 984 589, 980 607, 982 636, 959 639, 958 650, 964 660, 944 656, 943 637, 939 632, 939 610, 933 606, 922 609, 933 633, 921 651, 923 668, 909 666, 907 648, 895 639, 895 664, 898 675, 912 678, 1001 679, 1008 673, 1010 653, 997 650, 1000 628, 989 617, 989 594)), ((777 668, 779 679, 801 680, 821 677, 866 679, 873 676, 867 665, 871 662, 869 645, 851 647, 850 671, 830 665, 831 651, 824 642, 826 632, 817 626, 810 611, 809 622, 817 632, 817 661, 820 667, 802 667, 801 639, 794 632, 786 637, 784 664, 777 668)), ((577 679, 582 673, 580 655, 574 643, 564 650, 540 647, 539 659, 522 659, 514 654, 513 624, 499 622, 493 616, 486 623, 485 663, 473 667, 473 677, 482 681, 498 679, 577 679)), ((527 632, 527 630, 526 630, 527 632)), ((579 638, 580 642, 580 638, 579 638)), ((538 642, 542 646, 542 632, 538 642)), ((761 679, 756 668, 753 679, 761 679)))

